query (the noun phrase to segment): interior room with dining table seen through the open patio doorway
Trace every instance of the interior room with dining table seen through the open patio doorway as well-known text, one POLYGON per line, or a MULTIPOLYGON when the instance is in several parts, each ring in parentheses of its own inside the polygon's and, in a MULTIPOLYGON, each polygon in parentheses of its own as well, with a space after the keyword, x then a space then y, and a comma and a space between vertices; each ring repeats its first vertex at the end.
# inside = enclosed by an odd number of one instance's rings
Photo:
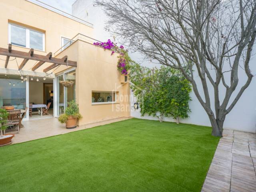
POLYGON ((29 77, 30 119, 53 117, 53 79, 29 77))

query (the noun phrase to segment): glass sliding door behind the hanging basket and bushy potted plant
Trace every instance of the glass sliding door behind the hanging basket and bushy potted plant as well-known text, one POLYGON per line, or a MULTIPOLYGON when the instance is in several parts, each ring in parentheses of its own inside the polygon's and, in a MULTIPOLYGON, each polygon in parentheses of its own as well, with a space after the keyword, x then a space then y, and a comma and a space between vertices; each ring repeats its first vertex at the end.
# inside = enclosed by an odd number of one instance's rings
POLYGON ((57 116, 63 114, 68 102, 76 100, 76 70, 64 72, 57 76, 57 116), (73 82, 72 86, 64 87, 61 81, 73 82))

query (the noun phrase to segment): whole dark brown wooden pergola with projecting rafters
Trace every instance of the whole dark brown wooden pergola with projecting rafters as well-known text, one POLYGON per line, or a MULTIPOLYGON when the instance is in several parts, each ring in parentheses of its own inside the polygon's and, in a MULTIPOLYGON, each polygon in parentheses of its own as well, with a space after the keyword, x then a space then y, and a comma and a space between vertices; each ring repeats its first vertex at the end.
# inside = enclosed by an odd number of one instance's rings
POLYGON ((40 66, 42 66, 45 62, 52 63, 52 65, 44 68, 44 72, 48 72, 49 70, 52 70, 53 68, 56 68, 59 65, 65 65, 65 66, 74 66, 76 67, 76 61, 70 61, 68 60, 68 56, 64 56, 63 58, 55 58, 52 57, 52 52, 49 52, 47 55, 40 55, 40 54, 34 54, 34 49, 30 49, 29 52, 23 52, 18 50, 12 50, 12 44, 8 45, 8 48, 0 48, 0 55, 6 56, 5 60, 5 68, 8 68, 8 62, 10 57, 15 58, 23 58, 23 61, 19 65, 18 69, 22 70, 22 68, 26 65, 28 60, 36 60, 38 61, 33 67, 32 71, 35 71, 40 66))

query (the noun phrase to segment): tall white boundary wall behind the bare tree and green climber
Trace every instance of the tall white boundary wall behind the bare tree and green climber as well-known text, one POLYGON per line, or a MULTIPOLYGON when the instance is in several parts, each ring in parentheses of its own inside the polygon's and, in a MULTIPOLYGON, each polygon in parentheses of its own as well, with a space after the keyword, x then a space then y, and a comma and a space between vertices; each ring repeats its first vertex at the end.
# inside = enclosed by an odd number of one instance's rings
MULTIPOLYGON (((109 38, 113 40, 113 37, 104 30, 104 21, 106 20, 106 16, 99 7, 93 6, 94 0, 77 0, 72 6, 72 14, 74 16, 80 17, 92 24, 94 24, 94 38, 106 41, 109 38), (88 14, 87 14, 88 13, 88 14)), ((255 47, 256 48, 256 47, 255 47)), ((256 50, 254 48, 254 53, 256 50)), ((142 56, 138 53, 130 54, 131 58, 136 62, 142 61, 142 56)), ((252 69, 252 74, 256 74, 256 55, 252 55, 252 60, 250 61, 250 66, 252 69)), ((147 67, 157 66, 150 62, 142 62, 142 65, 147 67)), ((159 65, 158 65, 159 66, 159 65)), ((240 70, 239 72, 239 84, 238 87, 246 81, 247 76, 244 72, 240 70)), ((195 80, 200 85, 200 79, 195 75, 195 80)), ((209 85, 210 86, 210 85, 209 85)), ((211 87, 211 86, 210 86, 211 87)), ((203 97, 202 87, 198 86, 199 92, 203 97)), ((220 98, 223 98, 225 95, 224 88, 220 88, 220 98)), ((211 106, 214 106, 214 92, 213 89, 209 89, 211 97, 211 106)), ((237 92, 236 92, 237 93, 237 92)), ((181 119, 180 122, 188 123, 188 124, 197 124, 204 126, 211 126, 209 118, 202 108, 201 104, 198 102, 194 92, 191 93, 192 101, 190 102, 191 113, 189 114, 189 118, 181 119)), ((204 97, 203 97, 204 98, 204 97)), ((234 98, 233 98, 234 99, 234 98)), ((232 100, 232 98, 231 98, 232 100)), ((136 102, 136 98, 134 98, 133 93, 131 91, 131 116, 136 118, 144 118, 151 120, 158 120, 152 116, 140 116, 140 111, 133 109, 133 104, 136 102)), ((164 118, 164 121, 174 122, 172 118, 164 118)), ((234 106, 233 110, 226 116, 226 120, 224 122, 224 128, 240 130, 245 132, 256 132, 256 77, 252 79, 250 86, 244 91, 240 100, 238 100, 237 104, 234 106)))

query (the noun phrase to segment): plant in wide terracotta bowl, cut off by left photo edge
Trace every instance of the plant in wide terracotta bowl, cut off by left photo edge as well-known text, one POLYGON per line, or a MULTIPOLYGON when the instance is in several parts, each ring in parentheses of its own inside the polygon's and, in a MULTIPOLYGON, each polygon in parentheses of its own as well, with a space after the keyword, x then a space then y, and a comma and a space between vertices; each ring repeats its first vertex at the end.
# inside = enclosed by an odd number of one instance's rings
POLYGON ((3 130, 6 130, 6 126, 4 125, 7 122, 8 112, 5 109, 0 109, 0 146, 8 145, 12 143, 12 138, 14 134, 3 134, 3 130))

